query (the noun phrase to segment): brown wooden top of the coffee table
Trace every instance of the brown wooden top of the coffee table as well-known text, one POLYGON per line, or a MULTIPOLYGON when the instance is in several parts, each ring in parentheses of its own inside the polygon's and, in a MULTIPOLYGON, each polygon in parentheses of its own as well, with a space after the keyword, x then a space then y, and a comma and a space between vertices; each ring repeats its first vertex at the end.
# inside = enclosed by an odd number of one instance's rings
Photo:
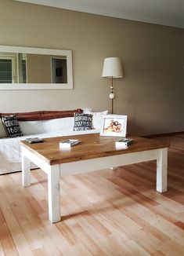
POLYGON ((131 138, 133 144, 128 148, 116 148, 115 141, 119 141, 121 137, 103 137, 99 133, 44 138, 44 142, 38 144, 29 144, 27 141, 20 143, 50 165, 169 147, 168 142, 143 137, 131 138), (81 143, 63 150, 60 148, 60 141, 66 139, 78 139, 81 143))

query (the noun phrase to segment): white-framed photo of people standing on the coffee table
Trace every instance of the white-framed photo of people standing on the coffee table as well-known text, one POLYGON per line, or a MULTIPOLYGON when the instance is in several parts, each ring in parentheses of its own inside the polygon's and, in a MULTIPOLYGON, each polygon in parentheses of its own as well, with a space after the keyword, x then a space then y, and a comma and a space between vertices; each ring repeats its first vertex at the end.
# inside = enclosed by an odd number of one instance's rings
POLYGON ((126 137, 127 115, 104 115, 100 135, 126 137))

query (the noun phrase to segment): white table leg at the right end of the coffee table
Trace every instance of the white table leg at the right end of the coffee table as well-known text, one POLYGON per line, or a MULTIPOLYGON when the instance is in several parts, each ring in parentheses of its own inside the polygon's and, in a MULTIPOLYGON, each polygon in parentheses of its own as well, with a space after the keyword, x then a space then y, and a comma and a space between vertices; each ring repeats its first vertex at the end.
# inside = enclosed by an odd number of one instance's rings
POLYGON ((157 191, 166 192, 168 189, 168 148, 159 149, 157 159, 157 191))

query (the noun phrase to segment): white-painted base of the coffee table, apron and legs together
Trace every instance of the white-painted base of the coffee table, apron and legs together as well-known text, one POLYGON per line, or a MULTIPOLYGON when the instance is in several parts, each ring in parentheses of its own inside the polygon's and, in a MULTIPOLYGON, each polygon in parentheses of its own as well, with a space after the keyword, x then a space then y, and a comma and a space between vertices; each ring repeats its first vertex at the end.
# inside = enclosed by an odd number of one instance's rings
POLYGON ((30 163, 35 163, 48 175, 49 220, 54 223, 60 221, 60 176, 80 174, 92 170, 124 166, 132 163, 142 163, 157 160, 157 191, 167 191, 168 180, 168 148, 157 148, 141 152, 131 152, 121 155, 110 155, 96 159, 87 159, 70 163, 49 165, 44 159, 34 155, 24 146, 22 149, 22 184, 31 185, 30 163))

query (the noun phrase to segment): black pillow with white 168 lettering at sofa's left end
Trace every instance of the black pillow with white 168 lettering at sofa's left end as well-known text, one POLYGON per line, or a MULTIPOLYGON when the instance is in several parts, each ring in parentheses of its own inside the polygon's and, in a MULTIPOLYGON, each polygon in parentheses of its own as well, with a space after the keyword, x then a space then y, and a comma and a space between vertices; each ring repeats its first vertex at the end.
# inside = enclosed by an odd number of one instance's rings
POLYGON ((9 137, 23 136, 18 120, 16 119, 16 115, 2 116, 2 123, 4 124, 9 137))

